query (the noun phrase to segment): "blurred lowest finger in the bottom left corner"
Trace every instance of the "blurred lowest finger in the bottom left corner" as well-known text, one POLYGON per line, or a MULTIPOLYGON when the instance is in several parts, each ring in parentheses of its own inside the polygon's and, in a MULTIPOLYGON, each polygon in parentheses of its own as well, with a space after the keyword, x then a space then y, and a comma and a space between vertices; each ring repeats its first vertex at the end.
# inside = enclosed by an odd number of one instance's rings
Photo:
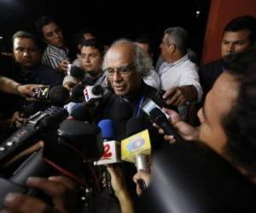
POLYGON ((5 212, 54 212, 40 199, 20 193, 9 193, 5 197, 3 205, 7 209, 5 212))

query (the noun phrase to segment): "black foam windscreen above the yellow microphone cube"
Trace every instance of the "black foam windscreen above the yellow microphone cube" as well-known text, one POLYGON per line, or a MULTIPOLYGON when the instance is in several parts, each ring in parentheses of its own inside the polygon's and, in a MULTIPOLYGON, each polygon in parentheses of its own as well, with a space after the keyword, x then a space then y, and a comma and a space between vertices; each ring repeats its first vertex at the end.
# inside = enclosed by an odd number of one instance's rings
POLYGON ((126 136, 129 137, 146 129, 147 124, 145 123, 144 118, 130 118, 126 124, 126 136))

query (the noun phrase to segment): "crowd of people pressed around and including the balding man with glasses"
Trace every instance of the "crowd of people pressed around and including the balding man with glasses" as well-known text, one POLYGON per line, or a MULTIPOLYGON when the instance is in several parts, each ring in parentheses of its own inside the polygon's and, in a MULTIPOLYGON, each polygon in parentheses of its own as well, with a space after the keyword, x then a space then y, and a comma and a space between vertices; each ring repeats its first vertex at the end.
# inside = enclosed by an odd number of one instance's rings
MULTIPOLYGON (((224 28, 220 44, 222 58, 202 67, 195 64, 195 54, 189 50, 188 32, 182 27, 169 27, 163 32, 156 66, 152 61, 150 41, 145 35, 135 41, 120 38, 108 47, 98 41, 92 31, 84 29, 77 35, 77 58, 71 58, 61 28, 52 17, 44 16, 37 20, 36 28, 41 39, 47 43, 44 53, 38 45, 38 38, 32 33, 15 32, 14 63, 9 67, 9 74, 0 77, 0 90, 6 97, 1 108, 2 142, 26 123, 31 114, 24 113, 25 109, 33 101, 38 103, 35 92, 42 85, 62 85, 66 88, 70 96, 61 107, 68 105, 68 102, 82 102, 90 109, 92 124, 111 119, 116 141, 126 137, 125 127, 130 118, 142 118, 149 131, 152 143, 149 171, 136 171, 136 167, 128 163, 109 164, 107 169, 115 198, 107 195, 107 200, 112 203, 108 204, 108 208, 104 206, 96 210, 97 200, 101 200, 97 198, 91 212, 137 212, 140 204, 137 196, 142 197, 147 192, 141 187, 141 180, 145 187, 150 188, 151 176, 154 172, 161 172, 151 168, 154 155, 179 143, 173 135, 166 135, 160 125, 153 124, 142 110, 143 101, 154 99, 160 89, 163 90, 160 99, 164 102, 160 107, 169 115, 168 123, 181 135, 182 142, 206 145, 254 188, 256 19, 253 16, 244 15, 230 20, 224 28), (77 68, 79 75, 71 73, 73 67, 77 68), (100 85, 102 98, 93 103, 84 101, 84 89, 88 85, 100 85), (130 110, 128 117, 119 115, 125 114, 122 104, 130 110), (118 110, 117 106, 123 108, 118 110), (195 106, 200 106, 198 126, 192 125, 195 122, 190 119, 195 118, 195 112, 190 110, 195 106)), ((46 104, 50 105, 50 102, 46 104)), ((33 107, 36 111, 42 109, 39 104, 33 107)), ((183 158, 182 153, 180 158, 183 158)), ((100 170, 99 173, 102 176, 106 171, 100 170)), ((98 194, 104 192, 104 181, 106 178, 103 178, 102 191, 98 194)), ((172 185, 172 178, 158 184, 172 185)), ((3 200, 3 212, 78 212, 79 186, 65 176, 29 177, 27 187, 42 191, 51 202, 28 194, 9 192, 3 200)), ((157 203, 153 205, 157 206, 157 203)), ((170 208, 169 212, 181 212, 178 207, 170 208)), ((222 211, 219 206, 218 212, 222 211)))

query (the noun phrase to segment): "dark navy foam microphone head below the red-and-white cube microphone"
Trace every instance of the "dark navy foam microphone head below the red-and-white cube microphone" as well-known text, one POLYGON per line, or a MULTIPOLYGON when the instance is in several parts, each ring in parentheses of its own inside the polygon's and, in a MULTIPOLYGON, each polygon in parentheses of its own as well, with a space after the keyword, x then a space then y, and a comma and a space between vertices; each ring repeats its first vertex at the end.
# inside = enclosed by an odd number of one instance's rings
POLYGON ((89 109, 84 106, 83 103, 76 103, 75 105, 73 105, 68 118, 83 122, 87 121, 89 123, 91 121, 89 109))

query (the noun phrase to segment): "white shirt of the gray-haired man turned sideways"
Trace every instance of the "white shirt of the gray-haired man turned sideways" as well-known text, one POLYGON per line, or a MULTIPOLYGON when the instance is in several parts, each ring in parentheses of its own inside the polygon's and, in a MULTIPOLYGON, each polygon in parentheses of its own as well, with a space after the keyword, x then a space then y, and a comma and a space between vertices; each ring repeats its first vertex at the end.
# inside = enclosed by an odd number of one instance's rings
POLYGON ((174 63, 164 62, 159 69, 160 88, 167 90, 175 86, 193 85, 197 90, 198 101, 201 101, 202 89, 197 66, 184 55, 174 63))

